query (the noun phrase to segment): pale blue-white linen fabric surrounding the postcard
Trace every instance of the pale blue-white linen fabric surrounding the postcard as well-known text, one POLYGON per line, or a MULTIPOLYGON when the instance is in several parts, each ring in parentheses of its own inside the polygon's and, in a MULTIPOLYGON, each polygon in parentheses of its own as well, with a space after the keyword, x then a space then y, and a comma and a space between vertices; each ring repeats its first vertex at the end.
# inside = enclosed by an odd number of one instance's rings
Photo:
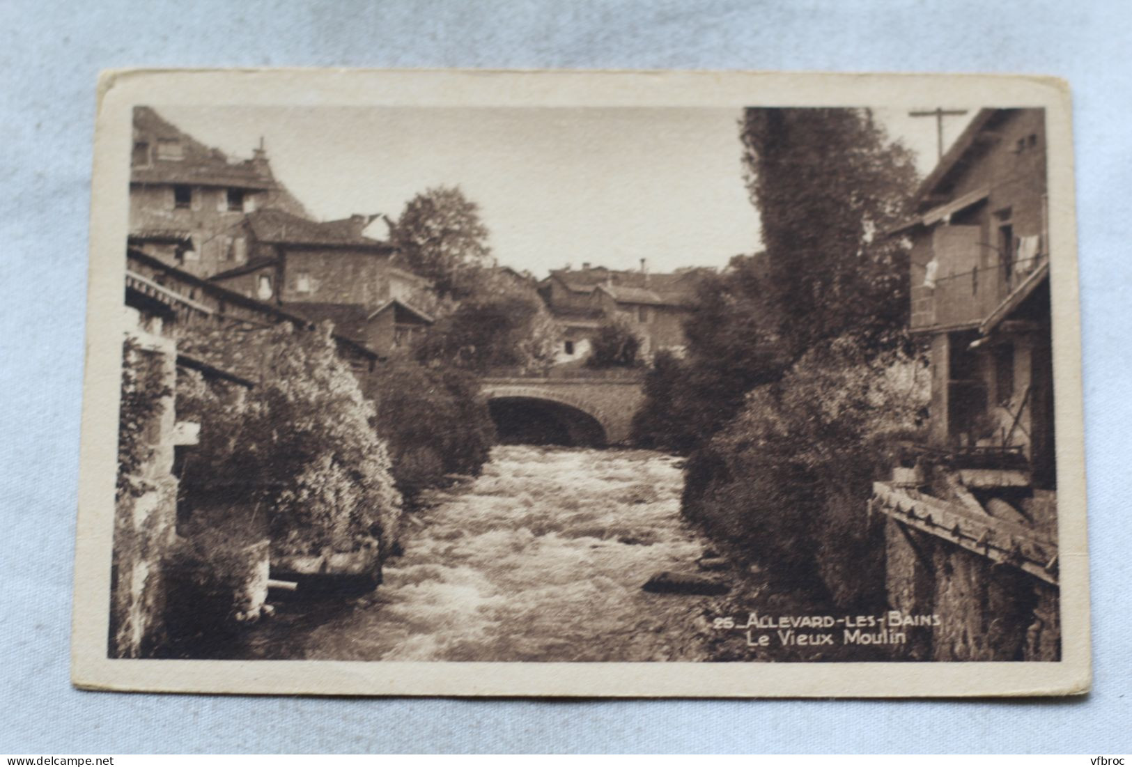
POLYGON ((7 0, 0 3, 0 751, 1132 750, 1126 3, 7 0), (95 83, 101 69, 132 66, 955 71, 1069 79, 1094 692, 1072 700, 484 701, 72 689, 95 83))

